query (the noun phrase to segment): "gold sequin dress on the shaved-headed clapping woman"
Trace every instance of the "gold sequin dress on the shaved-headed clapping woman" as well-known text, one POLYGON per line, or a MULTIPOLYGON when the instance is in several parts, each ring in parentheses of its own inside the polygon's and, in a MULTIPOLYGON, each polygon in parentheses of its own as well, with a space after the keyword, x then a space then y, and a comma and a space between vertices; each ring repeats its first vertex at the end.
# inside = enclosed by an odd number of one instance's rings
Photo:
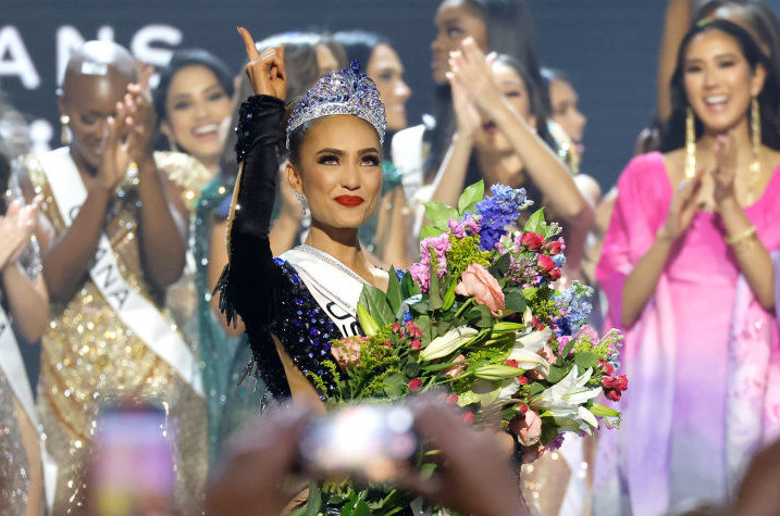
MULTIPOLYGON (((156 153, 154 159, 186 194, 190 171, 199 164, 184 154, 156 153)), ((61 235, 66 228, 40 162, 25 156, 20 163, 36 193, 44 196, 41 212, 61 235)), ((128 172, 109 204, 104 231, 127 285, 161 306, 164 292, 156 292, 141 269, 136 234, 139 206, 138 178, 128 172)), ((171 328, 177 331, 173 319, 171 328)), ((197 356, 197 350, 193 353, 197 356)), ((38 391, 48 448, 59 466, 54 514, 83 511, 98 410, 127 397, 162 404, 168 411, 173 423, 175 504, 182 514, 200 513, 207 470, 205 400, 124 325, 88 275, 66 305, 52 306, 42 338, 38 391)))

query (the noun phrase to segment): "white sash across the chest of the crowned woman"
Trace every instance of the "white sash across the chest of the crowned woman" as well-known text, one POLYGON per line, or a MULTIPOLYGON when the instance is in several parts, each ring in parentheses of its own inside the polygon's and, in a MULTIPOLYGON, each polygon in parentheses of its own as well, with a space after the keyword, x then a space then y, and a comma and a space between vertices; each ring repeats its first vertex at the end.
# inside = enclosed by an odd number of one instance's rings
POLYGON ((366 286, 360 276, 310 246, 298 246, 281 257, 295 267, 314 301, 344 337, 359 335, 358 301, 366 286))

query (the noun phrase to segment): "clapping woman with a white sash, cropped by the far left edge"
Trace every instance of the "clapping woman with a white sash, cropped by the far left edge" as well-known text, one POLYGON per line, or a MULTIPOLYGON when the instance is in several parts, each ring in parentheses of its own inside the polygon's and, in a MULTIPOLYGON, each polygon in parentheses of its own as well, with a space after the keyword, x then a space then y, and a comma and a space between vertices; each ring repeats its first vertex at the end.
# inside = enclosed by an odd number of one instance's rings
MULTIPOLYGON (((0 191, 9 173, 0 155, 0 191)), ((46 508, 44 454, 33 393, 37 377, 27 369, 46 329, 49 298, 30 241, 40 199, 22 207, 13 197, 0 196, 0 515, 34 516, 46 508)))

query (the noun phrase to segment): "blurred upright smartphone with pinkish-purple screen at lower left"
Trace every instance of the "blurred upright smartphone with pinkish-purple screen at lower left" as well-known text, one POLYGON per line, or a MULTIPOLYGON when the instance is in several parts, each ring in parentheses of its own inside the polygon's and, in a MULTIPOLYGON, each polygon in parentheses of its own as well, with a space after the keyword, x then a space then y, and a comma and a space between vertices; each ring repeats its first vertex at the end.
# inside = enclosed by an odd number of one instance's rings
POLYGON ((152 404, 107 406, 98 416, 92 507, 99 516, 173 514, 175 473, 165 412, 152 404))

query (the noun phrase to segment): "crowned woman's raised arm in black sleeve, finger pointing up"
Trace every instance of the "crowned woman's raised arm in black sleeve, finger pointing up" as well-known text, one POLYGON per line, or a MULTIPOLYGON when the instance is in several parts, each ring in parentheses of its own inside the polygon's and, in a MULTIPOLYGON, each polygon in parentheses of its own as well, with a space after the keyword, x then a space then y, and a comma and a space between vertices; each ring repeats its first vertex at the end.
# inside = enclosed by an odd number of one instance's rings
POLYGON ((249 33, 239 32, 249 56, 245 71, 257 95, 239 112, 236 151, 240 168, 228 218, 228 264, 218 289, 228 323, 240 315, 252 326, 269 323, 274 307, 269 226, 278 174, 276 147, 284 138, 286 74, 283 49, 268 49, 260 55, 249 33))

